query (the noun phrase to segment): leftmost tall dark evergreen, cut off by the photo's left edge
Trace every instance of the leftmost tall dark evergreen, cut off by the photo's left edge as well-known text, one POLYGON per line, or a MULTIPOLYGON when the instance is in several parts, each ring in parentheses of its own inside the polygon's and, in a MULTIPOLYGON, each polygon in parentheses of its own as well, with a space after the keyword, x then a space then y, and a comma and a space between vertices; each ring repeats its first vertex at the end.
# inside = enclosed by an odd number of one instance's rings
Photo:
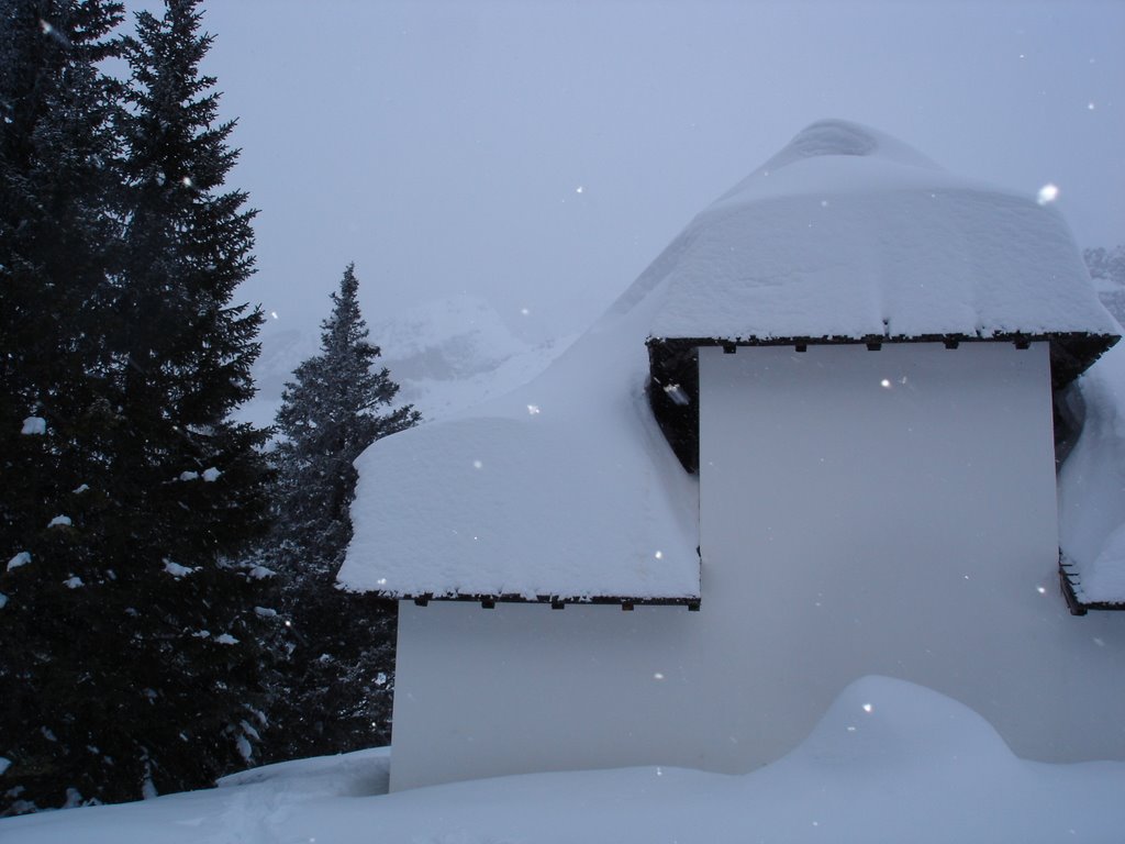
POLYGON ((110 465, 119 87, 99 65, 119 53, 122 16, 119 2, 0 0, 0 814, 92 796, 106 770, 74 698, 99 563, 82 531, 110 465))

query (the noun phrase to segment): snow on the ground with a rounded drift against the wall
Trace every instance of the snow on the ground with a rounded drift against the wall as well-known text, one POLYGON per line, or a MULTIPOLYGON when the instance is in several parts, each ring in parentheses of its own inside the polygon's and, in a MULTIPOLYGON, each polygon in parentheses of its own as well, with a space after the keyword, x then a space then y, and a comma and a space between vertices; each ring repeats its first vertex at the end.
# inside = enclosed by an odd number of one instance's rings
POLYGON ((4 844, 1119 842, 1125 763, 1011 754, 956 701, 868 676, 791 754, 742 775, 530 774, 385 794, 385 751, 248 771, 219 788, 0 820, 4 844))

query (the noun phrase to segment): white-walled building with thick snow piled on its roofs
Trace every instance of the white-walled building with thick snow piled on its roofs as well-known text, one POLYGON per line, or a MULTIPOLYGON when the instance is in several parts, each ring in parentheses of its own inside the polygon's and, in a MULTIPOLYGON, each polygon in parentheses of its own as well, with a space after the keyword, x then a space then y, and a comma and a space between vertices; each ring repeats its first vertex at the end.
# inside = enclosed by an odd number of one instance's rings
POLYGON ((1125 758, 1053 425, 1118 330, 1050 203, 810 126, 538 379, 360 458, 340 582, 402 599, 392 788, 745 771, 872 673, 1125 758))

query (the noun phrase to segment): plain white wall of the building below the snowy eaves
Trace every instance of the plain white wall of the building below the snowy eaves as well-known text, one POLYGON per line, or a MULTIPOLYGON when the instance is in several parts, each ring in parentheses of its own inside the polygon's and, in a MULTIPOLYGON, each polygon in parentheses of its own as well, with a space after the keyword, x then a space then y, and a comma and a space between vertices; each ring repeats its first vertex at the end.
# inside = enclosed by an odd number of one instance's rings
MULTIPOLYGON (((702 611, 403 603, 392 788, 744 771, 870 673, 964 701, 1022 755, 1125 758, 1125 613, 1072 618, 1054 575, 1045 347, 700 368, 702 611)), ((559 529, 580 529, 565 502, 559 529)))

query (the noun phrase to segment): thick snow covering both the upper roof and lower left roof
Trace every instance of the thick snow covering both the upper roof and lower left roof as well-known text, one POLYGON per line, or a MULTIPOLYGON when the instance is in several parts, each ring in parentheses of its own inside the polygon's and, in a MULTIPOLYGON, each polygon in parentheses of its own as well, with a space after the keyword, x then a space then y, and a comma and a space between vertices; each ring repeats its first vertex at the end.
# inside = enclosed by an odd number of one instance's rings
POLYGON ((873 129, 814 124, 538 378, 369 448, 339 581, 399 598, 691 603, 699 486, 649 406, 646 342, 1020 332, 1094 335, 1092 357, 1116 336, 1059 214, 873 129))

